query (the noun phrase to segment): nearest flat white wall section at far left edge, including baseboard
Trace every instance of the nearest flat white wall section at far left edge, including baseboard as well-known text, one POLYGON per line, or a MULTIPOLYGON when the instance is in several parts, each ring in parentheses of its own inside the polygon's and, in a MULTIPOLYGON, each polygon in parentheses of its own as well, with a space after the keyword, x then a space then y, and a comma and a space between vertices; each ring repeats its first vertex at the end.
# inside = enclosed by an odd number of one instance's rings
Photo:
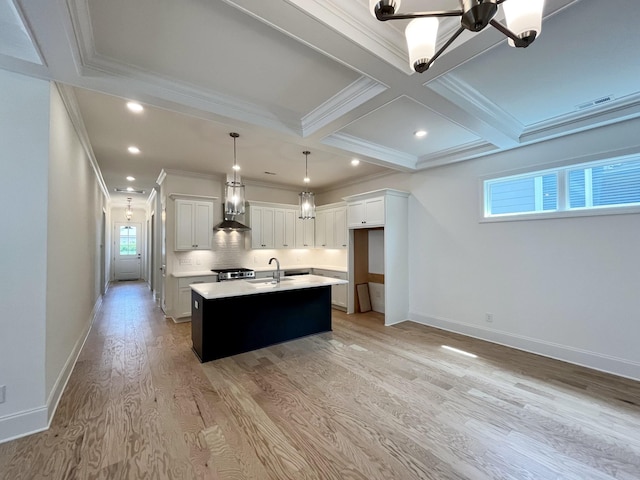
POLYGON ((49 82, 0 70, 0 441, 46 426, 49 82))

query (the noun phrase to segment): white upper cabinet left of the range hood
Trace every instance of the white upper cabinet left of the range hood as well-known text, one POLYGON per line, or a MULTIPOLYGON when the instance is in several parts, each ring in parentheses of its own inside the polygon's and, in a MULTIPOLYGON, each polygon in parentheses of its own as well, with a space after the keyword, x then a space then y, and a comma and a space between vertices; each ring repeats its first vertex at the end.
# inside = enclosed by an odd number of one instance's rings
POLYGON ((213 202, 176 201, 175 250, 209 250, 213 235, 213 202))

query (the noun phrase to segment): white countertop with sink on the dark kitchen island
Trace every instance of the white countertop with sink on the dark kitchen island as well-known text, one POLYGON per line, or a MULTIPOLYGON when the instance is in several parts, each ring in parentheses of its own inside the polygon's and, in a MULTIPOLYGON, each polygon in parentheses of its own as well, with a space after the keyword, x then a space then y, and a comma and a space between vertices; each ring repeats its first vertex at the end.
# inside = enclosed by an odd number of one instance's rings
POLYGON ((190 285, 191 289, 202 295, 205 299, 241 297, 244 295, 256 295, 260 293, 284 292, 287 290, 299 290, 302 288, 323 287, 328 285, 340 285, 349 283, 337 278, 320 277, 317 275, 300 275, 295 277, 282 277, 280 283, 271 283, 270 279, 258 280, 232 280, 216 283, 196 283, 190 285))

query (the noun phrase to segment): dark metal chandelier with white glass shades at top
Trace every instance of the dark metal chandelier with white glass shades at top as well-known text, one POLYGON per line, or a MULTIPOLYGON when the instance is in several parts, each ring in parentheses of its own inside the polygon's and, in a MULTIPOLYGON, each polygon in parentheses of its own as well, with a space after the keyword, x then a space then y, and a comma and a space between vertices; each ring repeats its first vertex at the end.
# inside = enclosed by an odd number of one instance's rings
POLYGON ((409 64, 418 73, 426 72, 433 62, 465 30, 479 32, 487 25, 509 38, 512 47, 526 48, 533 43, 542 29, 544 0, 459 0, 457 10, 398 13, 401 0, 369 0, 373 15, 380 21, 407 20, 405 29, 409 64), (498 5, 503 5, 507 22, 505 27, 494 20, 498 5), (460 28, 436 52, 438 17, 461 17, 460 28))

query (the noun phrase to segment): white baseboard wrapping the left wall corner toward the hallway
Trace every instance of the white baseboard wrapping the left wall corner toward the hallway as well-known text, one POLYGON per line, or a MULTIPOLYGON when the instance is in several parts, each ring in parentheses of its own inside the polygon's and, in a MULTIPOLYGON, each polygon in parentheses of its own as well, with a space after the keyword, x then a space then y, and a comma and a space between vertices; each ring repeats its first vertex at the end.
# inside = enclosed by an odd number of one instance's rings
POLYGON ((60 398, 62 397, 62 393, 67 386, 71 373, 73 372, 73 367, 75 367, 78 356, 82 351, 82 347, 89 336, 89 331, 93 326, 93 322, 100 311, 102 298, 103 297, 100 296, 96 300, 93 310, 91 311, 91 315, 89 316, 89 322, 78 337, 78 340, 69 354, 64 367, 60 371, 60 375, 58 375, 56 383, 51 389, 46 405, 0 418, 0 443, 15 440, 20 437, 26 437, 27 435, 32 435, 49 429, 53 415, 55 414, 60 398))

